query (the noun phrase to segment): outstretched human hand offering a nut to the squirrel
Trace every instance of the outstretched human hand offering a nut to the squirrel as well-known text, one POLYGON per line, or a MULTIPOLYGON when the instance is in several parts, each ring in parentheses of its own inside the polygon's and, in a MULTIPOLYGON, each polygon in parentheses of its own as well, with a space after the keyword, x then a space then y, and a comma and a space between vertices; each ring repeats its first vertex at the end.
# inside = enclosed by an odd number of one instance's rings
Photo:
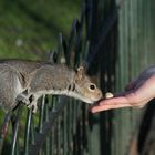
POLYGON ((120 107, 143 107, 155 97, 155 65, 146 69, 137 80, 125 87, 125 92, 101 101, 91 107, 92 113, 120 107))

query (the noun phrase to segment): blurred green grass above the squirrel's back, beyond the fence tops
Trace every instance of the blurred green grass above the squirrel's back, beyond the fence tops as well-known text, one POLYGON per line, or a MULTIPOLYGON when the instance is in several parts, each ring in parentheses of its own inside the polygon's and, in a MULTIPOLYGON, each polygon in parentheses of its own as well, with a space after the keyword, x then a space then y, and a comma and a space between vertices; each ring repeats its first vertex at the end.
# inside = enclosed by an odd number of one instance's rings
POLYGON ((0 59, 46 59, 58 34, 68 39, 82 0, 1 0, 0 59))

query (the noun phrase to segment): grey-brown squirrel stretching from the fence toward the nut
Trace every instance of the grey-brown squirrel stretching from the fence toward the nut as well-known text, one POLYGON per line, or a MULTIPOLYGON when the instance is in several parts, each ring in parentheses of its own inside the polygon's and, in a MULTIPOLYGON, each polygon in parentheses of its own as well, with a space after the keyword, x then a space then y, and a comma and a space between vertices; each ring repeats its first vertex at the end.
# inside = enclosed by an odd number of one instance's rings
POLYGON ((74 71, 50 62, 0 60, 0 104, 4 111, 22 102, 35 113, 38 99, 44 94, 66 95, 91 104, 102 99, 101 90, 83 66, 74 71))

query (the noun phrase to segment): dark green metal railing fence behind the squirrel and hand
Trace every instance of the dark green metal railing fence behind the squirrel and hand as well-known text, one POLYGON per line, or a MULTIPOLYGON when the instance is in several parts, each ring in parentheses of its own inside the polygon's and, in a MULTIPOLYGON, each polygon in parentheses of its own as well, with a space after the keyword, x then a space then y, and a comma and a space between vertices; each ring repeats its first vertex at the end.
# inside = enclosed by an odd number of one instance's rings
MULTIPOLYGON (((85 0, 81 18, 73 21, 69 41, 59 34, 58 51, 53 51, 52 58, 56 63, 65 59, 72 68, 84 62, 103 93, 122 91, 144 68, 154 64, 154 4, 153 0, 85 0)), ((69 97, 43 96, 39 102, 38 114, 21 105, 6 115, 1 154, 133 153, 144 110, 92 115, 86 104, 69 97)))

